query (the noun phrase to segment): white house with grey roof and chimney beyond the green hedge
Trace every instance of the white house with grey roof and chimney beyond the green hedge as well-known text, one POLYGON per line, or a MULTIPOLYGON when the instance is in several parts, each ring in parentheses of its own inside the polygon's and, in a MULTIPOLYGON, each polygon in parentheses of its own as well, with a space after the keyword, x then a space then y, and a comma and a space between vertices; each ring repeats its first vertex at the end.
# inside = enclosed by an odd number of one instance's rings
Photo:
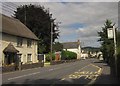
POLYGON ((77 59, 80 59, 81 57, 81 47, 80 47, 80 41, 77 42, 65 42, 63 44, 63 50, 71 51, 77 54, 77 59))

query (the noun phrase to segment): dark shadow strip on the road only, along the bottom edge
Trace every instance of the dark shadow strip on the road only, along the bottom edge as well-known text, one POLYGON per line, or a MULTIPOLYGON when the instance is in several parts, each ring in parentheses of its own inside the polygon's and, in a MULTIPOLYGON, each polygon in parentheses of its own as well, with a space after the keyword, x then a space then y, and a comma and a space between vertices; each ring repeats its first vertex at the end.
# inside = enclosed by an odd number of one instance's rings
MULTIPOLYGON (((58 84, 81 84, 81 85, 85 85, 87 83, 89 83, 91 80, 89 79, 85 79, 85 77, 81 77, 80 79, 67 79, 67 80, 61 80, 61 79, 37 79, 37 80, 30 80, 30 79, 26 79, 22 84, 26 84, 26 85, 40 85, 40 84, 48 84, 51 86, 57 86, 58 84)), ((15 82, 10 82, 8 84, 3 84, 2 86, 7 86, 7 85, 11 85, 12 86, 14 84, 18 84, 15 82)))

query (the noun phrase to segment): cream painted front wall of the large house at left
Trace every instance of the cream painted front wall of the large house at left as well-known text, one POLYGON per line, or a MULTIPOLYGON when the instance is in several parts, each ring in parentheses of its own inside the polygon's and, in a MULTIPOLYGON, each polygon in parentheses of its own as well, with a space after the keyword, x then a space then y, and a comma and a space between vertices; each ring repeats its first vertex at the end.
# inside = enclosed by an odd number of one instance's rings
MULTIPOLYGON (((27 47, 27 39, 23 38, 22 47, 17 47, 17 37, 12 35, 3 34, 2 35, 2 51, 8 46, 9 43, 12 43, 14 47, 22 54, 21 62, 23 64, 27 63, 27 54, 32 54, 32 62, 36 63, 37 60, 37 41, 32 41, 32 46, 27 47)), ((19 54, 18 53, 18 54, 19 54)), ((2 52, 2 63, 4 63, 4 53, 2 52)))

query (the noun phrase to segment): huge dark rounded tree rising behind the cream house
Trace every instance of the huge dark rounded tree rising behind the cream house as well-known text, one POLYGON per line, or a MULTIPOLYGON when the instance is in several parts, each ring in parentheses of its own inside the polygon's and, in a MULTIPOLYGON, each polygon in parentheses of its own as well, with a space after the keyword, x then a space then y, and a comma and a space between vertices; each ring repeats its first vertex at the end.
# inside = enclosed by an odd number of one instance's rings
POLYGON ((51 23, 53 23, 53 42, 59 37, 59 30, 48 9, 40 5, 23 5, 17 8, 14 17, 24 23, 40 39, 38 53, 50 51, 51 23))

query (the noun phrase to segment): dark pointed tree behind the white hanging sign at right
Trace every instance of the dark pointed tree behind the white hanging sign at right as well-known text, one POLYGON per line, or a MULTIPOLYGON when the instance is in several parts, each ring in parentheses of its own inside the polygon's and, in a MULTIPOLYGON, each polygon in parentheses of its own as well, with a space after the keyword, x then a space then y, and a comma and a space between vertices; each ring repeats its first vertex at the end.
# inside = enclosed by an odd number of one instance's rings
POLYGON ((98 41, 101 42, 103 58, 108 63, 110 62, 110 59, 114 57, 114 42, 113 40, 108 39, 107 29, 112 28, 114 25, 115 24, 113 24, 111 20, 106 20, 104 27, 102 27, 102 31, 98 32, 98 35, 100 36, 98 41))

